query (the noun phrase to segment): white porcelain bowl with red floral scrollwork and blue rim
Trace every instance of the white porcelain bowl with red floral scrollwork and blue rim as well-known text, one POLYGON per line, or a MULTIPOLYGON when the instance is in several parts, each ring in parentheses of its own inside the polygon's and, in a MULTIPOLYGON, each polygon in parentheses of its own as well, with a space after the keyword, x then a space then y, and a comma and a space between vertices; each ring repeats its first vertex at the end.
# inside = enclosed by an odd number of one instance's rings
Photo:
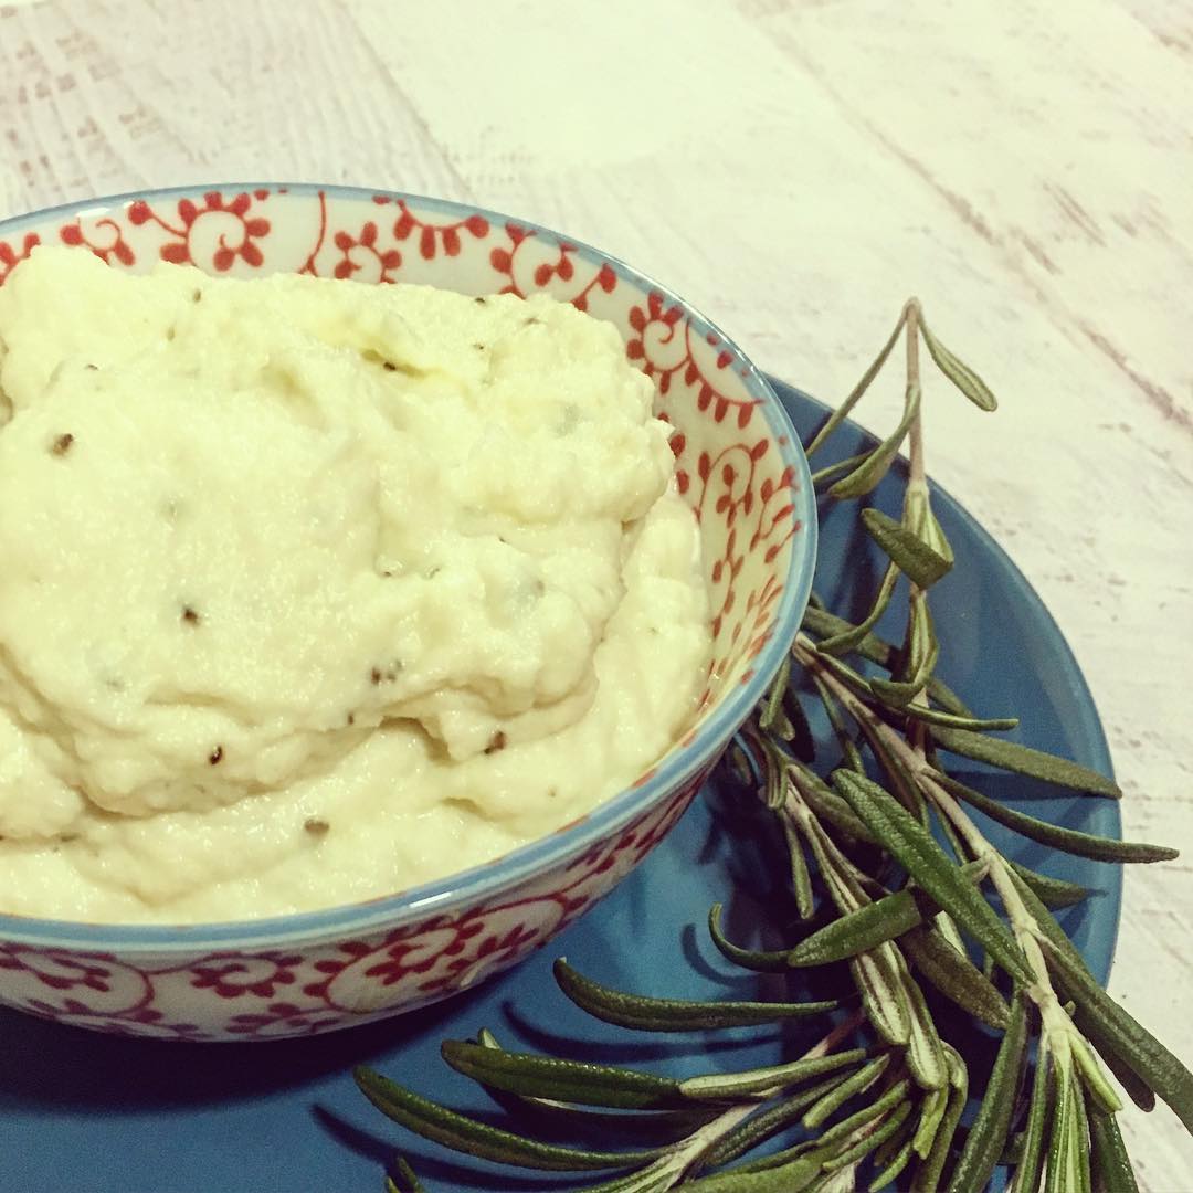
POLYGON ((542 947, 679 820, 778 668, 815 552, 808 470, 766 381, 724 335, 619 261, 544 228, 344 187, 159 191, 0 223, 0 285, 38 243, 116 268, 295 272, 465 293, 546 291, 613 323, 674 427, 700 520, 715 651, 698 722, 633 786, 544 841, 385 900, 185 928, 0 916, 0 1002, 66 1024, 184 1040, 367 1022, 464 989, 542 947))

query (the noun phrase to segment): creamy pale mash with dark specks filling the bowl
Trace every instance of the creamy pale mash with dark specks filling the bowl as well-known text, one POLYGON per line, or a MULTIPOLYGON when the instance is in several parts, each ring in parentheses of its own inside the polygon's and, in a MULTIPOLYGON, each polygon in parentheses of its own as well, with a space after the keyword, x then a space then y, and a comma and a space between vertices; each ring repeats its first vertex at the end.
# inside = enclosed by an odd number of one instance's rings
POLYGON ((36 249, 0 289, 0 910, 332 907, 624 787, 710 650, 651 396, 542 296, 36 249))

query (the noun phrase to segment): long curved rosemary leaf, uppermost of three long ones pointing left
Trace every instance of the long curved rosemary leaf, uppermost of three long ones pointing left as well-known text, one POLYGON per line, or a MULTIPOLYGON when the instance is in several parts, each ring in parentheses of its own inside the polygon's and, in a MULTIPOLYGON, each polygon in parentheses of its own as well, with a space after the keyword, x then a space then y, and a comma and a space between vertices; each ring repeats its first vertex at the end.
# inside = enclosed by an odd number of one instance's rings
POLYGON ((606 1024, 643 1032, 711 1031, 804 1019, 834 1010, 836 1002, 700 1002, 648 999, 600 985, 577 973, 564 958, 555 963, 555 981, 581 1010, 606 1024))

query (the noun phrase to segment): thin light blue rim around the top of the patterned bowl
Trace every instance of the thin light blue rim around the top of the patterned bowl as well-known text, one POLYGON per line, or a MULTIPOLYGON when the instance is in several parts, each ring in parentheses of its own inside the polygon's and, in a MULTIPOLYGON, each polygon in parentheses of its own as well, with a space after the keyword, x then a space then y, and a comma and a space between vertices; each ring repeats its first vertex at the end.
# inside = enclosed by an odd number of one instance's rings
POLYGON ((186 198, 203 196, 211 191, 252 192, 254 190, 329 198, 372 200, 375 196, 403 199, 416 206, 446 215, 462 212, 483 215, 494 223, 514 223, 533 230, 536 235, 556 243, 573 246, 580 258, 592 265, 610 265, 620 280, 642 288, 645 292, 661 295, 665 302, 680 305, 692 326, 701 334, 719 338, 727 351, 744 366, 740 376, 750 397, 760 402, 771 435, 777 441, 784 463, 795 468, 797 486, 793 493, 796 508, 792 520, 801 524, 801 533, 793 538, 791 567, 784 582, 779 607, 775 611, 769 641, 754 661, 753 674, 736 684, 717 704, 709 719, 697 731, 688 746, 673 748, 656 765, 651 777, 641 786, 619 792, 594 808, 574 828, 557 830, 528 845, 519 846, 509 853, 464 870, 446 878, 424 883, 395 895, 387 895, 365 902, 346 903, 319 911, 301 911, 292 915, 270 916, 256 920, 229 920, 212 923, 138 925, 138 923, 84 923, 73 920, 43 920, 32 916, 0 914, 0 939, 23 944, 51 945, 55 947, 119 948, 125 952, 168 953, 196 950, 228 948, 233 945, 270 946, 280 942, 309 941, 342 938, 347 933, 370 932, 379 928, 397 928, 427 915, 453 910, 463 903, 488 900, 515 886, 537 873, 544 873, 570 860, 596 841, 611 836, 626 822, 642 815, 679 790, 700 766, 706 762, 733 735, 749 710, 762 698, 767 684, 779 669, 789 643, 795 637, 808 604, 816 563, 816 500, 812 493, 811 474, 804 458, 799 437, 787 412, 779 401, 768 378, 747 357, 736 342, 725 335, 711 320, 691 303, 685 302, 673 290, 660 285, 653 278, 626 265, 619 258, 557 233, 542 224, 518 216, 490 211, 469 203, 455 203, 429 196, 412 194, 406 191, 376 190, 357 186, 323 186, 317 183, 209 183, 202 186, 175 186, 159 190, 136 191, 67 203, 55 208, 43 208, 23 216, 0 221, 0 239, 13 233, 30 230, 54 218, 100 215, 112 208, 124 206, 135 199, 186 198))

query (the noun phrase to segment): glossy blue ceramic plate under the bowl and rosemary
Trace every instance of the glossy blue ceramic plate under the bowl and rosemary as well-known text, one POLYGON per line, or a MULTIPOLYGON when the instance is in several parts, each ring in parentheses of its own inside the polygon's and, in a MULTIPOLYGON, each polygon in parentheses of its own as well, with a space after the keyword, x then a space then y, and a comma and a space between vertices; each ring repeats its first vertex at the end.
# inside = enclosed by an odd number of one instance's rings
MULTIPOLYGON (((824 408, 777 387, 806 438, 824 408)), ((863 435, 846 428, 839 438, 845 455, 859 449, 863 435)), ((889 478, 878 503, 894 513, 900 494, 889 478)), ((934 589, 946 644, 942 678, 983 715, 1018 713, 1019 740, 1108 772, 1089 691, 1047 610, 960 506, 940 493, 935 508, 958 561, 934 589)), ((853 507, 826 511, 820 551, 818 591, 834 610, 860 611, 880 562, 858 532, 853 507)), ((898 626, 888 632, 897 636, 898 626)), ((995 795, 1024 801, 1016 806, 1036 815, 1120 834, 1112 801, 1025 790, 996 777, 982 781, 995 795)), ((550 975, 554 958, 567 954, 582 972, 656 995, 750 997, 764 981, 773 982, 734 972, 704 929, 709 905, 725 901, 736 939, 777 939, 781 923, 768 909, 787 904, 781 866, 766 864, 773 845, 761 832, 764 823, 753 812, 734 812, 727 793, 710 785, 643 866, 545 952, 478 990, 388 1024, 309 1040, 193 1045, 115 1039, 0 1012, 0 1189, 372 1193, 381 1189, 383 1167, 398 1145, 435 1193, 575 1188, 583 1181, 457 1164, 449 1152, 373 1112, 348 1070, 370 1064, 434 1098, 492 1108, 443 1065, 443 1038, 489 1026, 509 1045, 680 1075, 796 1055, 791 1050, 810 1044, 817 1025, 729 1033, 712 1043, 635 1037, 575 1010, 550 975)), ((1118 870, 1059 857, 1044 863, 1043 848, 1007 841, 997 827, 990 835, 1025 865, 1099 892, 1062 920, 1105 978, 1118 928, 1118 870)), ((795 979, 780 981, 792 982, 798 996, 795 979)))

